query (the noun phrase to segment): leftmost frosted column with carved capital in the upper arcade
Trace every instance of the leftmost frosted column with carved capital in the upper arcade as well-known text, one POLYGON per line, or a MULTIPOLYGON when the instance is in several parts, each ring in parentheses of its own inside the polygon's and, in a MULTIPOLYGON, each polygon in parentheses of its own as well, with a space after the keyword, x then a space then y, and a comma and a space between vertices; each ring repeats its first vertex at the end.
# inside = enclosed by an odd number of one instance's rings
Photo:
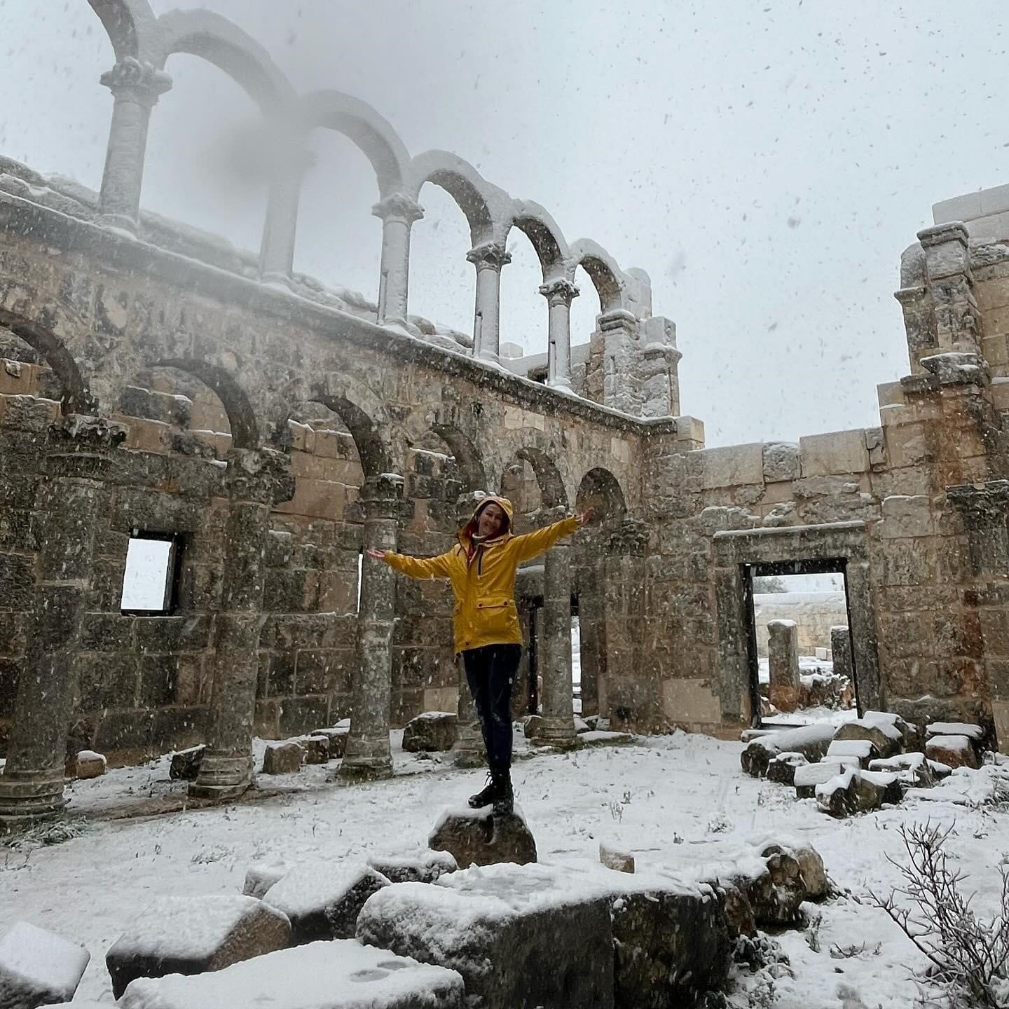
POLYGON ((101 82, 112 92, 115 105, 98 207, 103 222, 135 234, 150 110, 172 87, 172 78, 127 57, 106 71, 101 82))

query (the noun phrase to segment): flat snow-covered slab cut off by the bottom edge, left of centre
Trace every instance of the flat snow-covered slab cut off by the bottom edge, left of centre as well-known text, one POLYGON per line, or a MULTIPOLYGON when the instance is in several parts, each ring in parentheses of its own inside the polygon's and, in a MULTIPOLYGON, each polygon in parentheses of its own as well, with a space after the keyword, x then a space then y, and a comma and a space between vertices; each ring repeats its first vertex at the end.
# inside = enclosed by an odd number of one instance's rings
POLYGON ((354 939, 311 942, 195 977, 134 981, 119 1009, 463 1009, 453 971, 354 939))

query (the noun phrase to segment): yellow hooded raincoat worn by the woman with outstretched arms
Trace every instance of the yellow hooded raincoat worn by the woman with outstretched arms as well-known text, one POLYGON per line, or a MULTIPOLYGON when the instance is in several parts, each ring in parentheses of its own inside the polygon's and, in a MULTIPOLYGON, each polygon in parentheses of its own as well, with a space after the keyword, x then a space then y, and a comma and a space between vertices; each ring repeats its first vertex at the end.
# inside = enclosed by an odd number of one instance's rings
POLYGON ((448 578, 455 595, 452 627, 456 652, 484 645, 521 645, 522 628, 515 604, 515 575, 523 561, 549 550, 578 528, 574 517, 525 536, 513 536, 514 510, 507 497, 488 495, 480 500, 459 542, 437 557, 385 554, 385 563, 411 578, 448 578), (480 510, 493 501, 508 516, 509 528, 493 540, 477 544, 470 552, 480 510))

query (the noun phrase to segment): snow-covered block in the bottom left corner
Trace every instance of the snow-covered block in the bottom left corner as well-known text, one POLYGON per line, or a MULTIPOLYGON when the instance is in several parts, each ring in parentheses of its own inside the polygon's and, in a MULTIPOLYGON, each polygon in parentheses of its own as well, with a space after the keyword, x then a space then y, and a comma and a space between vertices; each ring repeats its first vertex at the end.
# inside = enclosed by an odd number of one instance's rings
POLYGON ((0 939, 0 1006, 35 1009, 69 1002, 90 960, 91 954, 76 942, 15 921, 0 939))

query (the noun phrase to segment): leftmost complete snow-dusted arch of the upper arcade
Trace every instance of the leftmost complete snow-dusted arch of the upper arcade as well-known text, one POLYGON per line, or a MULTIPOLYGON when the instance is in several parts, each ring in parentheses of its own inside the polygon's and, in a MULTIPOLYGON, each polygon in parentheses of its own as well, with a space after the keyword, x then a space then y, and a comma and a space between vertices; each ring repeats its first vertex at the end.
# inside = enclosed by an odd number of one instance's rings
POLYGON ((157 19, 160 65, 175 52, 200 57, 241 86, 265 115, 295 101, 295 91, 269 53, 236 24, 209 10, 172 10, 157 19))

